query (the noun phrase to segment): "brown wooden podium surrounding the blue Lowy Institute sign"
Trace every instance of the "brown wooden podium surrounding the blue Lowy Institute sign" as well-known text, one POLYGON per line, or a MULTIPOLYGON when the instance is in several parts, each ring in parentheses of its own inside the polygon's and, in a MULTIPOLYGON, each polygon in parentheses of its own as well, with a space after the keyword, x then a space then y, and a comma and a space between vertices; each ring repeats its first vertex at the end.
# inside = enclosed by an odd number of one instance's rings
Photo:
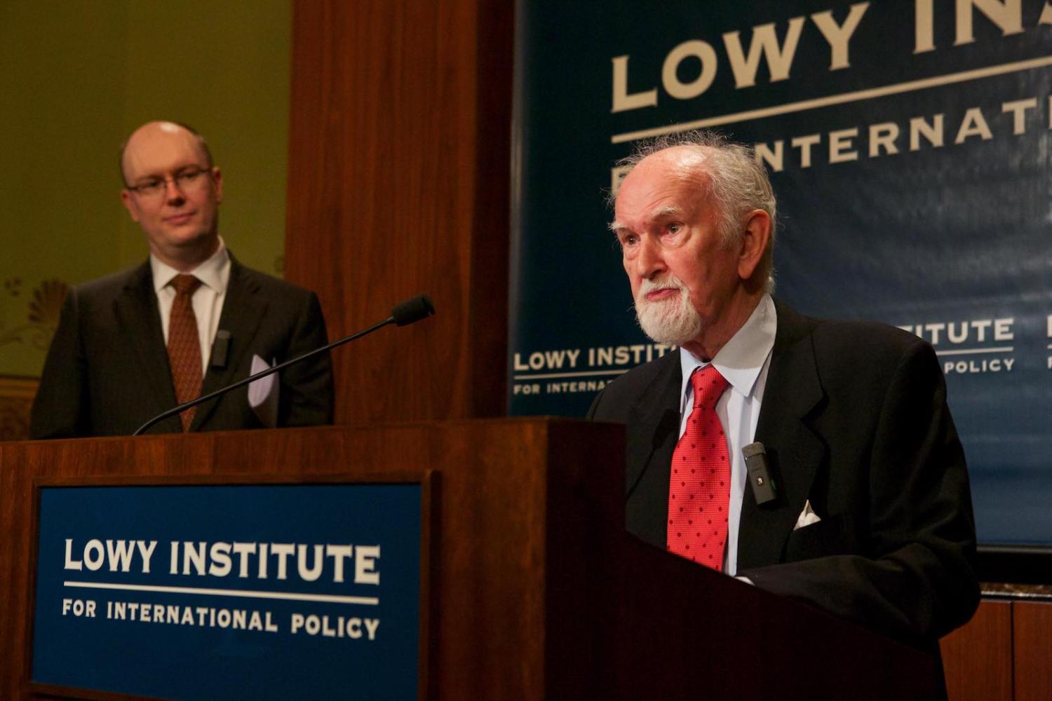
POLYGON ((627 534, 622 427, 545 418, 0 444, 0 698, 37 698, 35 479, 426 470, 423 698, 938 698, 930 657, 627 534))

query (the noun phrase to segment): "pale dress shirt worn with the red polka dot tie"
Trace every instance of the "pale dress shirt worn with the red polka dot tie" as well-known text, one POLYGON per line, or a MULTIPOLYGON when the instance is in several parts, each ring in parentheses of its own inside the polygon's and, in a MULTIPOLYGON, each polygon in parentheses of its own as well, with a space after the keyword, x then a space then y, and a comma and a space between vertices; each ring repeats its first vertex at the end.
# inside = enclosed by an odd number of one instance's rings
MULTIPOLYGON (((730 451, 730 503, 727 510, 727 551, 724 572, 737 573, 737 532, 742 518, 742 499, 748 474, 742 448, 752 442, 760 420, 760 405, 764 399, 767 371, 774 348, 777 318, 771 295, 765 294, 749 319, 727 342, 711 364, 728 382, 728 388, 716 403, 716 416, 727 436, 730 451)), ((703 363, 688 350, 680 349, 683 385, 680 396, 680 436, 687 430, 687 418, 694 406, 694 388, 690 375, 709 363, 703 363)))

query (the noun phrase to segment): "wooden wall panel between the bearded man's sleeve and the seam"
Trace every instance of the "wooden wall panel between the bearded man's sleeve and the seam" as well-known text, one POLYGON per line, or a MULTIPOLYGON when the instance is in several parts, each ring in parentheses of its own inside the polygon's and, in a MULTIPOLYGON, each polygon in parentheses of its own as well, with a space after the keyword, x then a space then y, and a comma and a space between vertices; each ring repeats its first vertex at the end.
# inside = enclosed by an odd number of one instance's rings
POLYGON ((942 640, 950 701, 1012 701, 1012 604, 984 600, 942 640))

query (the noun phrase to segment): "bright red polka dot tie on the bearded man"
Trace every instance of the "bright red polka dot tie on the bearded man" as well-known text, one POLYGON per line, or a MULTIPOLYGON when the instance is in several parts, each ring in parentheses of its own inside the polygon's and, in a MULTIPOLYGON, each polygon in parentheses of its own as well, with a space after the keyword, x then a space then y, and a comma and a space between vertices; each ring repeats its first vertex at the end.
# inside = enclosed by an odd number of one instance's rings
POLYGON ((716 401, 727 380, 711 365, 690 377, 694 408, 672 453, 668 549, 720 572, 727 544, 730 458, 716 401))

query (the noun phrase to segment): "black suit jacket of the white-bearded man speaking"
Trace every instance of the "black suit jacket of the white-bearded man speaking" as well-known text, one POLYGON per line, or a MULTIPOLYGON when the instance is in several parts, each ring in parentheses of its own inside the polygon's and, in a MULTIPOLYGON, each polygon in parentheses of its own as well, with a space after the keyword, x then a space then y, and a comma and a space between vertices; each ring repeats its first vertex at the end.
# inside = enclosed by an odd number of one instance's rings
MULTIPOLYGON (((755 440, 781 497, 760 507, 746 489, 737 574, 931 648, 978 604, 968 475, 935 354, 899 329, 775 306, 755 440), (794 531, 807 499, 822 520, 794 531)), ((627 528, 661 548, 680 389, 672 352, 589 411, 627 424, 627 528)))

